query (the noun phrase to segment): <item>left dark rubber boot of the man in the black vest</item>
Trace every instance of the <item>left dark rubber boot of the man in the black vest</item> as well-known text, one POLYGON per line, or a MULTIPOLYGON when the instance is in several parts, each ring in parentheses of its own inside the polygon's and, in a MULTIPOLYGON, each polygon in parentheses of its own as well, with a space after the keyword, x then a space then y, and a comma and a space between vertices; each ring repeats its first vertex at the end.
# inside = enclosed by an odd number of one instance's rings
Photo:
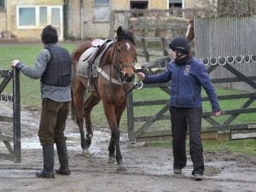
POLYGON ((55 149, 53 145, 43 145, 44 169, 36 172, 37 177, 54 178, 55 149))

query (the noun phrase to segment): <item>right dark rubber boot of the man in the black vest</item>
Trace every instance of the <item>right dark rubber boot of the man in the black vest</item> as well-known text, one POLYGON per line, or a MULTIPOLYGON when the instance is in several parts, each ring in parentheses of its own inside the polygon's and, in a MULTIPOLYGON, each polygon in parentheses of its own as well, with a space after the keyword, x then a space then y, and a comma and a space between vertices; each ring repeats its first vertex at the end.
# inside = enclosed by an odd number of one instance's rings
POLYGON ((67 145, 66 143, 56 143, 56 147, 60 161, 60 168, 55 170, 55 173, 61 175, 70 175, 70 170, 68 168, 67 145))

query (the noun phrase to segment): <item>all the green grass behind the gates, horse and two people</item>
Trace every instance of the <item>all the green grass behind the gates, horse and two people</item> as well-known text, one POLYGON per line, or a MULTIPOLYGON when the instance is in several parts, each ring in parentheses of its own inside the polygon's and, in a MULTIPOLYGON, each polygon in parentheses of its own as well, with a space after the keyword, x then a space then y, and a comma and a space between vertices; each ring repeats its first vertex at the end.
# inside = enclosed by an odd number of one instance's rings
MULTIPOLYGON (((70 53, 75 49, 78 43, 60 43, 63 48, 66 48, 70 53)), ((43 44, 1 44, 0 45, 0 63, 1 68, 11 69, 10 63, 14 59, 19 59, 26 65, 34 67, 34 62, 38 56, 39 51, 43 49, 43 44)), ((2 79, 0 79, 2 80, 2 79)), ((10 86, 11 84, 9 84, 10 86)), ((3 90, 7 91, 7 94, 11 92, 10 87, 3 90)), ((238 90, 227 90, 218 89, 218 96, 221 95, 231 95, 241 93, 238 90)), ((202 92, 203 96, 206 93, 202 92)), ((168 100, 169 95, 159 88, 142 89, 133 91, 134 101, 147 101, 147 100, 168 100)), ((241 108, 241 106, 247 101, 247 99, 236 99, 236 100, 225 100, 219 101, 222 110, 241 108)), ((41 106, 41 93, 40 93, 40 80, 30 79, 20 73, 20 102, 22 106, 40 108, 41 106)), ((155 113, 159 112, 163 108, 162 105, 151 105, 145 107, 135 107, 134 116, 153 116, 155 113)), ((211 112, 212 107, 210 102, 203 102, 204 111, 211 112)), ((253 102, 249 108, 256 108, 256 102, 253 102)), ((166 112, 169 115, 169 112, 166 112)), ((213 118, 219 123, 223 123, 229 116, 223 115, 218 118, 213 118)), ((98 125, 108 125, 108 121, 104 115, 102 109, 102 102, 100 102, 92 111, 91 119, 93 123, 98 125)), ((245 122, 255 122, 255 113, 245 113, 240 114, 235 119, 234 123, 245 123, 245 122)), ((143 122, 144 123, 144 122, 143 122)), ((135 127, 142 125, 143 123, 137 123, 135 127)), ((152 128, 153 130, 170 130, 170 120, 156 121, 152 128)), ((203 126, 209 125, 207 122, 203 121, 203 126)), ((126 110, 122 115, 120 121, 120 130, 127 131, 127 113, 126 110)))

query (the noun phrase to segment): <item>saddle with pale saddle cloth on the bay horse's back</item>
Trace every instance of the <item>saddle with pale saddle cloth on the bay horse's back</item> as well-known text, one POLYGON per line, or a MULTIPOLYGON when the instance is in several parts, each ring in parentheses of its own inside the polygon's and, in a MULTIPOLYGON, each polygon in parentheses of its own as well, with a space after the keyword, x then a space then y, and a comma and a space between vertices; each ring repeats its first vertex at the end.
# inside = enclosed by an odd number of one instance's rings
POLYGON ((109 39, 95 39, 92 41, 91 47, 86 49, 79 58, 77 74, 90 80, 97 78, 96 67, 99 67, 102 56, 111 44, 113 44, 113 41, 109 39))

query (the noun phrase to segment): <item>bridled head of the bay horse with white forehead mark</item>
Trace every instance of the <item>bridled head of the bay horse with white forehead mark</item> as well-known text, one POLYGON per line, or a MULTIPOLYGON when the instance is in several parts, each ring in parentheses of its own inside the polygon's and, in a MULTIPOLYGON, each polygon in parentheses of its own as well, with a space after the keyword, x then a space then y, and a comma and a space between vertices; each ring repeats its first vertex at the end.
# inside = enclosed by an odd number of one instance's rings
POLYGON ((124 30, 119 26, 115 43, 115 54, 122 82, 131 82, 135 77, 136 45, 134 29, 124 30))

